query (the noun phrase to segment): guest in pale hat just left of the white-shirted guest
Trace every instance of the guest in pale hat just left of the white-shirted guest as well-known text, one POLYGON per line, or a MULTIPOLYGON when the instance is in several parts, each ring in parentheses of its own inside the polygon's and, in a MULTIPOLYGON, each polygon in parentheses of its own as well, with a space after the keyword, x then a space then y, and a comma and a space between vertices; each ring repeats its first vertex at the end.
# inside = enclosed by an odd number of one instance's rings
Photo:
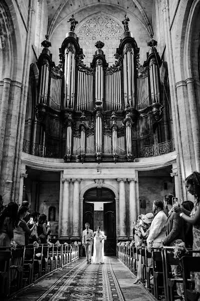
MULTIPOLYGON (((149 234, 150 225, 153 220, 153 214, 152 213, 146 213, 146 215, 142 215, 140 223, 140 227, 138 229, 138 232, 141 233, 141 239, 142 239, 142 246, 146 246, 146 238, 149 234)), ((137 277, 136 280, 133 282, 133 284, 139 283, 141 280, 141 255, 138 255, 138 264, 137 264, 137 277)), ((150 263, 150 262, 149 262, 150 263)))

